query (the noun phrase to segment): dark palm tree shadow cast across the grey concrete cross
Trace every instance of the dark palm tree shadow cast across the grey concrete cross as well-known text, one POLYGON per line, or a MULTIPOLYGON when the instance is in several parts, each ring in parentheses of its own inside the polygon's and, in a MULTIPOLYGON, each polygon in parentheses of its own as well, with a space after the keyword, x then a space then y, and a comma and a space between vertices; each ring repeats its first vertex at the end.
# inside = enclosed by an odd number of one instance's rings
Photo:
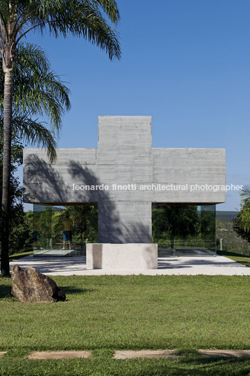
MULTIPOLYGON (((75 161, 67 163, 67 173, 73 181, 85 185, 101 185, 90 168, 75 161)), ((69 194, 69 187, 64 177, 57 170, 36 154, 25 160, 25 180, 29 182, 32 193, 25 193, 25 202, 48 204, 90 204, 98 203, 98 234, 99 243, 151 243, 151 229, 143 223, 123 223, 120 220, 116 202, 105 190, 75 190, 74 196, 69 194)), ((72 192, 71 192, 72 193, 72 192)))

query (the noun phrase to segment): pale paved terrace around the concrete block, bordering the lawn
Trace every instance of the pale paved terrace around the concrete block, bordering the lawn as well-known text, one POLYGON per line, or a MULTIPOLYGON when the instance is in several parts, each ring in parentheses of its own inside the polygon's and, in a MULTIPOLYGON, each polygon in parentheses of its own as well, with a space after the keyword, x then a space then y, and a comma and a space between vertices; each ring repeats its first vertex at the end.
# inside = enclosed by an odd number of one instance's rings
POLYGON ((84 256, 74 257, 33 257, 32 255, 11 262, 11 267, 18 264, 20 267, 35 267, 41 273, 50 276, 101 276, 104 274, 145 274, 155 276, 156 274, 168 275, 195 275, 206 274, 216 276, 250 276, 250 268, 223 256, 212 257, 159 257, 158 269, 151 270, 104 270, 86 269, 86 258, 84 256))

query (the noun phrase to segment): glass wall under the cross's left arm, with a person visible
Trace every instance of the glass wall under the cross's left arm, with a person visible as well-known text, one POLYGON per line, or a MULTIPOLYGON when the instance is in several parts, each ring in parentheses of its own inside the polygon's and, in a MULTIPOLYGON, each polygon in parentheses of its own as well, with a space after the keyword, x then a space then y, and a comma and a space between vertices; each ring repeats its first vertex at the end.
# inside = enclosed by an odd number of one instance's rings
POLYGON ((86 244, 97 243, 97 220, 97 206, 34 205, 34 255, 85 255, 86 244))

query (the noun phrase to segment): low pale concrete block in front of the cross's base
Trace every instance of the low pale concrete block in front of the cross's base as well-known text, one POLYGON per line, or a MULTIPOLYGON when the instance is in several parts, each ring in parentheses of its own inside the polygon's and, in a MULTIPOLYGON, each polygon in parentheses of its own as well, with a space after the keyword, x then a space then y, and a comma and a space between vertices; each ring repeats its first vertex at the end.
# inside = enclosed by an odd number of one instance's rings
POLYGON ((151 243, 87 244, 87 269, 158 269, 158 245, 151 243))

